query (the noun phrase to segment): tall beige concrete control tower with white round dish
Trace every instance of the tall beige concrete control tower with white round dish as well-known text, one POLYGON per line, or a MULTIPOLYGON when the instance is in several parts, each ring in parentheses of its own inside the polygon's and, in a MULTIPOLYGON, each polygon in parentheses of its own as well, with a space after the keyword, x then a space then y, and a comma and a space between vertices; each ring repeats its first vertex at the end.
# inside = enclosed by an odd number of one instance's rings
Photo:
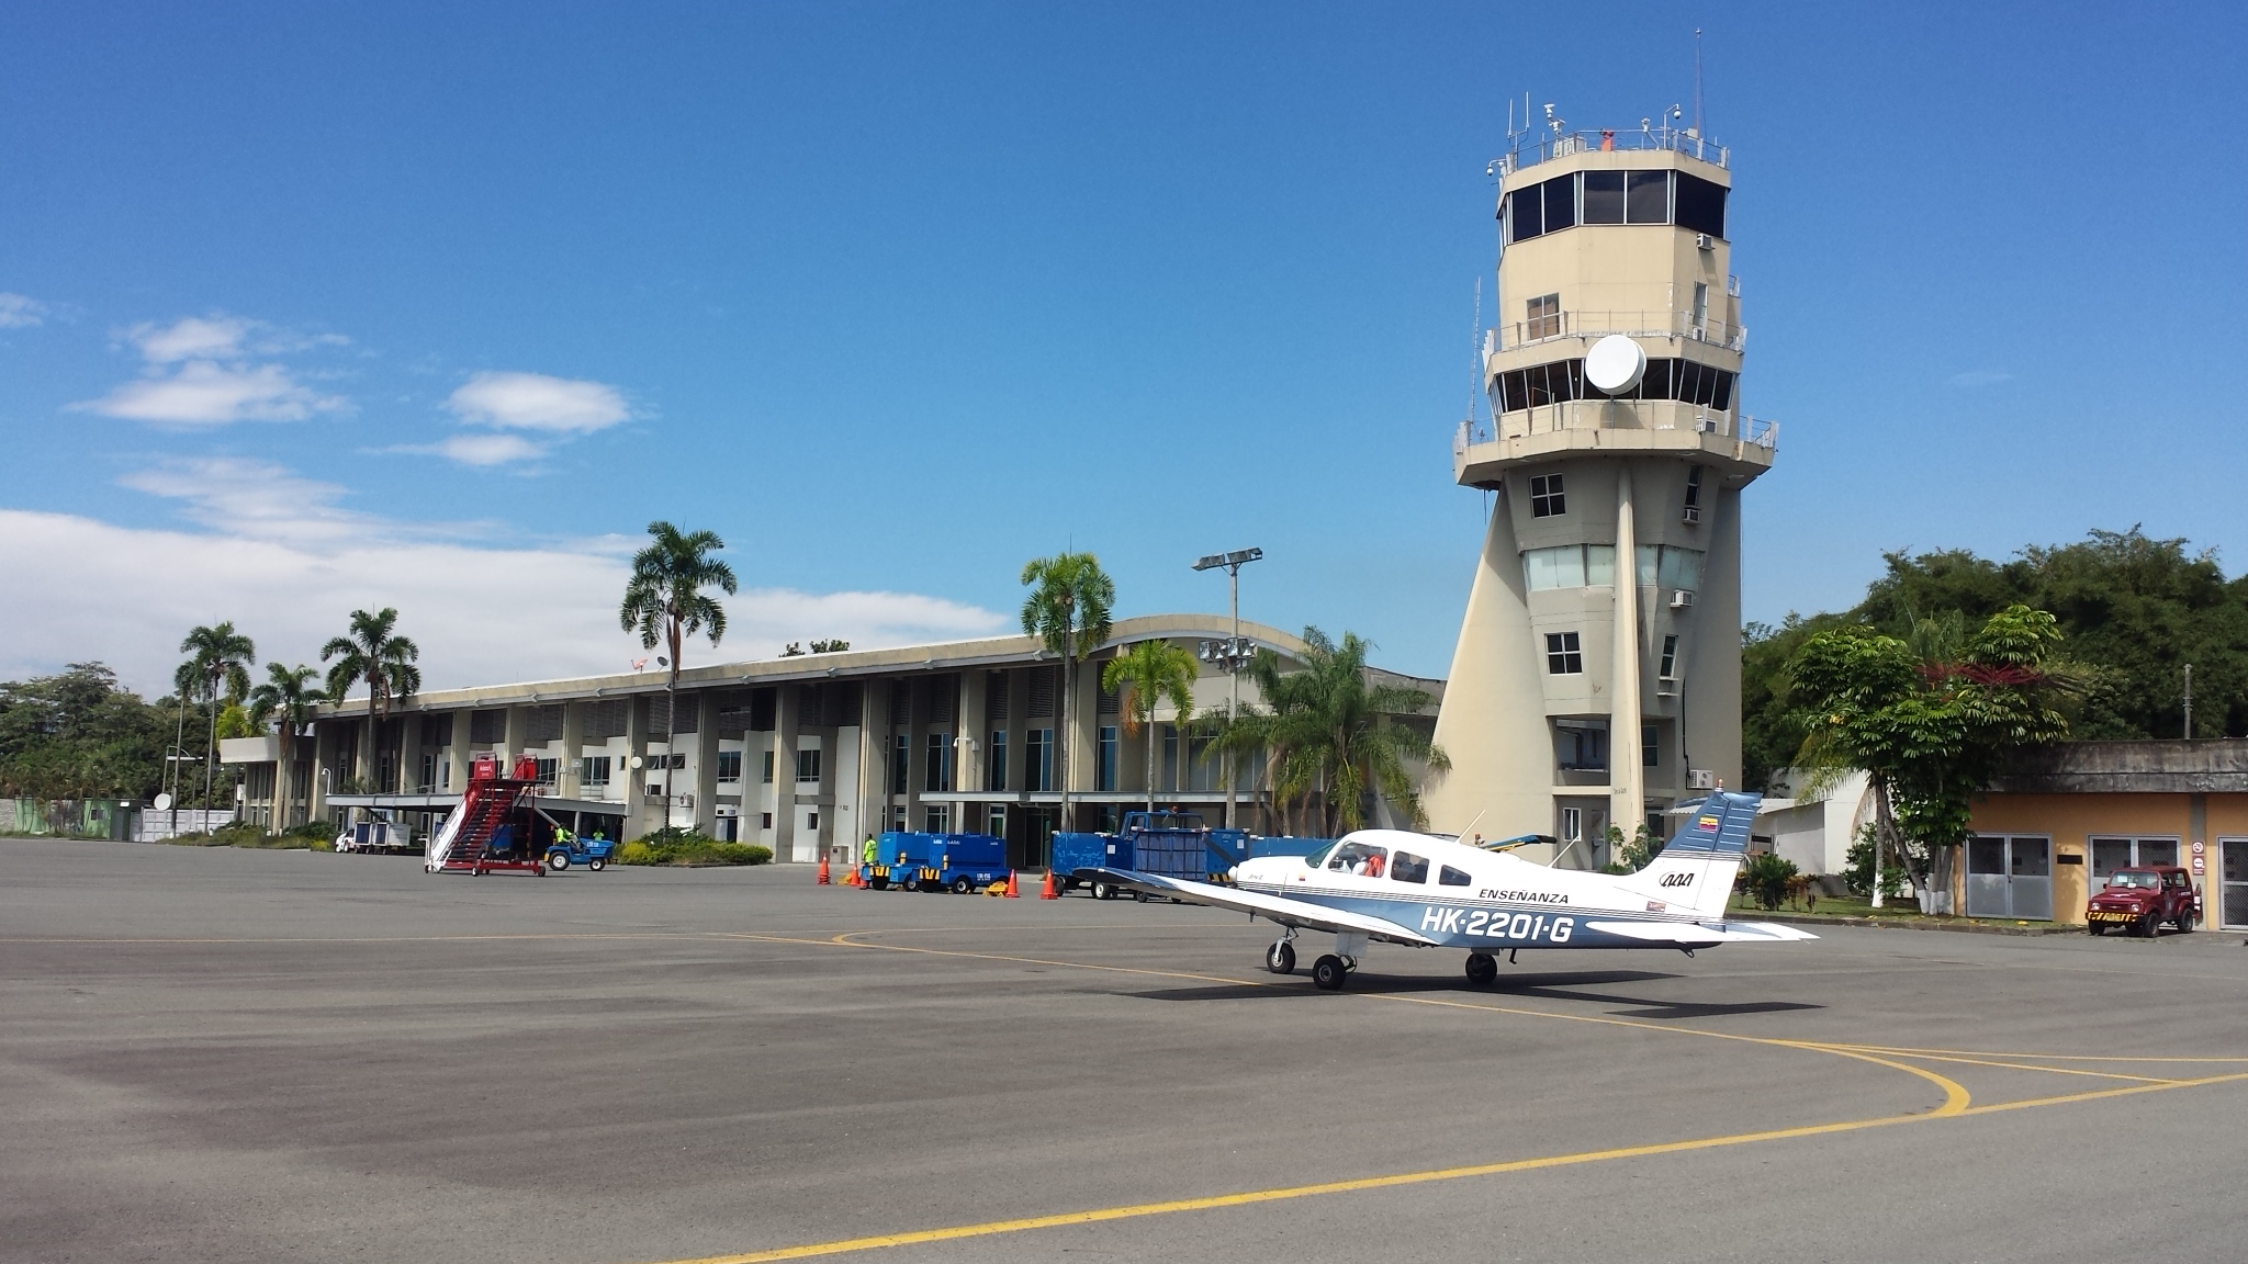
POLYGON ((1740 490, 1778 427, 1740 409, 1729 157, 1690 128, 1551 124, 1495 164, 1493 421, 1452 441, 1493 495, 1436 830, 1551 834, 1587 868, 1607 825, 1666 837, 1666 807, 1740 783, 1740 490))

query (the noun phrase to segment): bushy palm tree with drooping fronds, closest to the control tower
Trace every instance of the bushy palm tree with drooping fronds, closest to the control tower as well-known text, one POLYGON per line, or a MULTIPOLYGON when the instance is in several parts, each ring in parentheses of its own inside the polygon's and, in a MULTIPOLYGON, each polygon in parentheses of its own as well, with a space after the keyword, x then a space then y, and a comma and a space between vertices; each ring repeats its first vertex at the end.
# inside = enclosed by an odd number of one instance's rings
POLYGON ((1272 796, 1286 812, 1290 801, 1306 810, 1320 798, 1322 830, 1356 830, 1365 823, 1365 798, 1378 792, 1405 810, 1414 825, 1427 823, 1407 760, 1430 771, 1450 771, 1452 758, 1427 733, 1389 722, 1427 706, 1427 693, 1367 684, 1367 650, 1374 645, 1344 632, 1338 645, 1317 628, 1304 628, 1304 670, 1281 672, 1272 650, 1250 661, 1250 679, 1266 706, 1248 706, 1218 731, 1218 749, 1261 749, 1270 767, 1272 796))

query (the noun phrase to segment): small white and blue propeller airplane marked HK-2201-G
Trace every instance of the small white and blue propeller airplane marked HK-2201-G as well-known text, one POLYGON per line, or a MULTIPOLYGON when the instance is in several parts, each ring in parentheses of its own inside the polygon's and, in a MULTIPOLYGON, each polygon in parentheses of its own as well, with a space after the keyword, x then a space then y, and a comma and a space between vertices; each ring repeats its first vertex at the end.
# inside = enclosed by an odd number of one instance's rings
POLYGON ((1335 951, 1311 965, 1329 992, 1358 969, 1369 940, 1468 949, 1468 981, 1499 976, 1497 954, 1520 949, 1668 947, 1693 956, 1717 945, 1776 945, 1819 936, 1724 915, 1749 850, 1760 794, 1711 792, 1648 868, 1628 875, 1551 868, 1463 843, 1452 834, 1353 830, 1308 857, 1257 857, 1234 886, 1126 868, 1081 868, 1187 904, 1239 909, 1284 927, 1266 969, 1295 972, 1297 931, 1333 931, 1335 951))

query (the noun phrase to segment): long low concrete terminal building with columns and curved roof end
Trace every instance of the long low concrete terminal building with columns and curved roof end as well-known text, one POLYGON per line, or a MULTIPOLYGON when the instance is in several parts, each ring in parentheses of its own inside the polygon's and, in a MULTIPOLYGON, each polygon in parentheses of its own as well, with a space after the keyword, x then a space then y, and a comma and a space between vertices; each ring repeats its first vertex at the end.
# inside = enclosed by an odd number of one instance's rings
MULTIPOLYGON (((1057 740, 1059 657, 1034 636, 991 636, 688 668, 677 715, 661 672, 420 693, 382 720, 353 699, 321 706, 294 753, 274 735, 229 740, 223 758, 245 765, 243 814, 268 825, 380 810, 420 837, 461 801, 477 756, 531 756, 540 807, 582 834, 692 825, 814 861, 881 830, 987 832, 1007 839, 1014 868, 1039 868, 1054 830, 1113 828, 1149 798, 1149 733, 1126 731, 1124 699, 1099 688, 1102 666, 1137 641, 1196 650, 1194 708, 1223 715, 1232 679, 1218 663, 1232 632, 1207 614, 1120 619, 1072 672, 1068 742, 1057 740), (1066 747, 1075 751, 1061 758, 1066 747)), ((1241 634, 1284 668, 1304 657, 1275 628, 1241 623, 1241 634)), ((1443 681, 1369 677, 1430 695, 1423 713, 1389 722, 1434 724, 1443 681)), ((1261 702, 1250 677, 1239 684, 1243 704, 1261 702)), ((1155 711, 1153 740, 1160 805, 1286 832, 1263 760, 1236 760, 1227 787, 1209 738, 1169 706, 1155 711)))

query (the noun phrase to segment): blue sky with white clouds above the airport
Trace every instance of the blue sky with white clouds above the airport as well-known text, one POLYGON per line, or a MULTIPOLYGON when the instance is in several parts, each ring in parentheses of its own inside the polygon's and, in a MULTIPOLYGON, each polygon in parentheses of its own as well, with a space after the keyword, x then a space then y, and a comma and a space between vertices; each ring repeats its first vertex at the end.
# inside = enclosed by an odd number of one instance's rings
POLYGON ((2237 560, 2239 7, 16 4, 0 672, 364 603, 432 684, 623 668, 670 517, 728 657, 1005 628, 1066 547, 1223 610, 1187 565, 1261 544, 1243 614, 1441 675, 1506 103, 1637 126, 1695 25, 1751 619, 1884 549, 2237 560))

